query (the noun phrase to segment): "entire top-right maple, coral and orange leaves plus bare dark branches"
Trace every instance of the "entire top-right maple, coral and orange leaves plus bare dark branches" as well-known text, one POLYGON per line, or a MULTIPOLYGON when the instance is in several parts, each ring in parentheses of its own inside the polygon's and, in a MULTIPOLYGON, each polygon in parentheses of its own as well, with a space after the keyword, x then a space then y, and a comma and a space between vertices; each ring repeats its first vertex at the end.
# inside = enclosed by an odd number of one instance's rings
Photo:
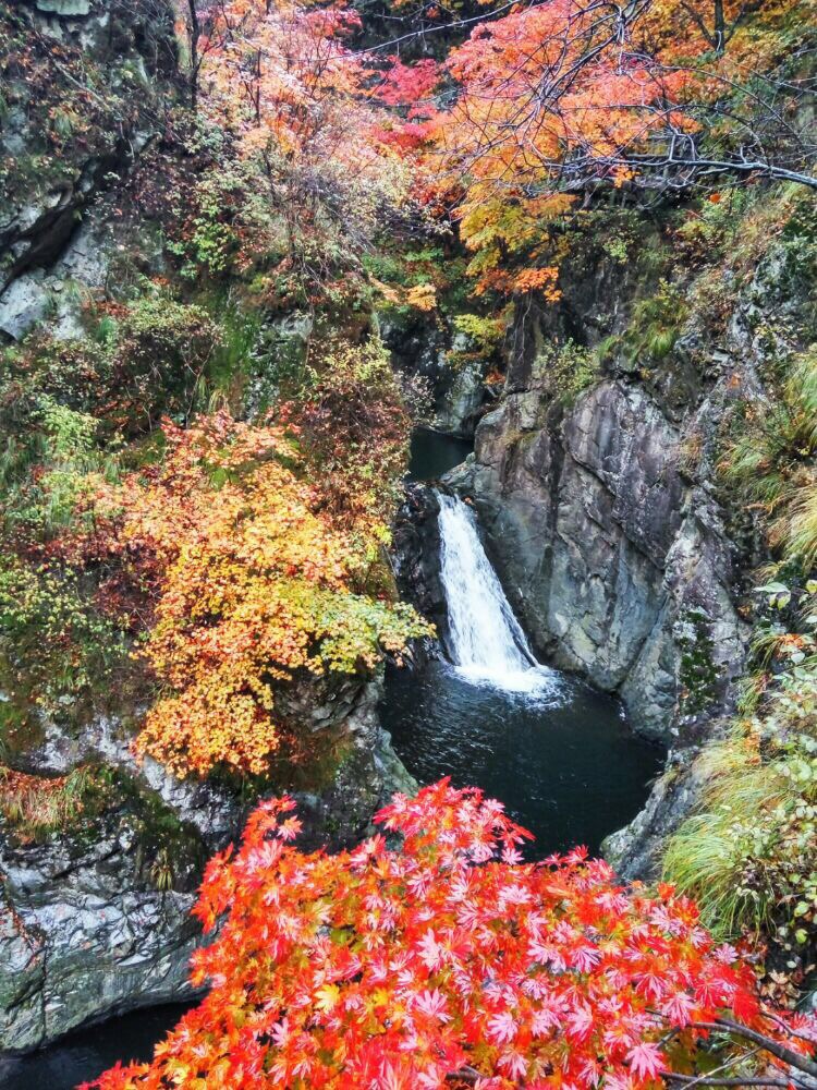
POLYGON ((807 22, 791 0, 545 0, 488 12, 436 84, 430 62, 397 60, 393 143, 415 167, 419 149, 416 185, 452 207, 476 293, 558 300, 565 223, 597 191, 817 186, 807 131, 783 120, 806 85, 758 76, 791 50, 793 16, 807 22))

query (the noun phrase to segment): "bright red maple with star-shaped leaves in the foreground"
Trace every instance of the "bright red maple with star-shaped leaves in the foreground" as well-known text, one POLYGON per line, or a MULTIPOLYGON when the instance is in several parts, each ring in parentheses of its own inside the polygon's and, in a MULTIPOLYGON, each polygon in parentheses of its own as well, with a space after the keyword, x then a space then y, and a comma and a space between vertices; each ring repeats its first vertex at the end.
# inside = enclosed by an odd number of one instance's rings
POLYGON ((398 795, 376 820, 399 848, 378 833, 334 856, 293 846, 293 809, 263 802, 208 864, 195 913, 221 923, 192 974, 206 998, 153 1063, 86 1090, 636 1090, 693 1081, 714 1032, 767 1049, 765 1085, 814 1067, 810 1022, 760 1004, 690 900, 627 892, 582 849, 523 863, 529 834, 479 790, 398 795))

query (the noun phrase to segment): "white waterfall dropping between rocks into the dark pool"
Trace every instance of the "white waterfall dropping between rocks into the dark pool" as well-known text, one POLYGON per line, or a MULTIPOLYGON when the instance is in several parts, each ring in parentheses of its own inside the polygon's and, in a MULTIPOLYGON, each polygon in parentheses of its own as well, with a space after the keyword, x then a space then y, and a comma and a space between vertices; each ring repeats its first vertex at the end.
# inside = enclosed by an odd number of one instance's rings
POLYGON ((537 686, 550 671, 536 662, 513 615, 479 541, 474 512, 455 496, 438 493, 438 498, 440 577, 454 666, 475 680, 504 689, 537 686))

